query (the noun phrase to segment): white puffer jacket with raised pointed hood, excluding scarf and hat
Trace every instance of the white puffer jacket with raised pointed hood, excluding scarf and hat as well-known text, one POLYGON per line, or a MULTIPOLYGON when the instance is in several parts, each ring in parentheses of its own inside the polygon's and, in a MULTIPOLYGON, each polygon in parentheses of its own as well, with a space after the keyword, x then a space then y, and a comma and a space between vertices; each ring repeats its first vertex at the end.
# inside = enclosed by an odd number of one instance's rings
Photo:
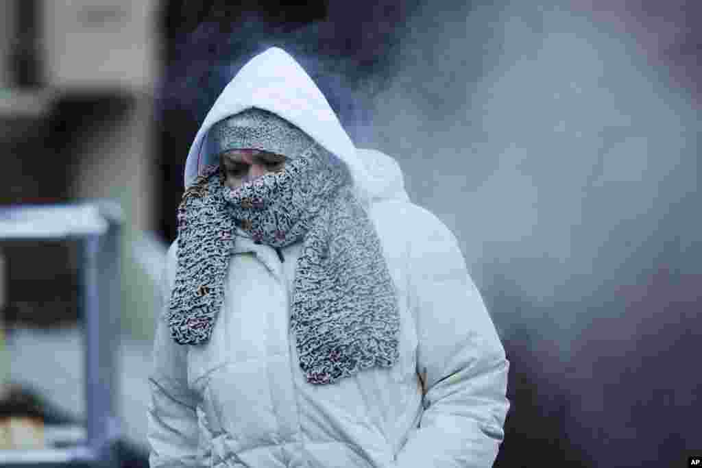
POLYGON ((510 406, 509 363, 456 238, 409 201, 394 159, 353 147, 284 51, 258 55, 227 85, 193 142, 186 186, 207 162, 201 146, 210 126, 253 106, 292 121, 350 167, 397 288, 400 361, 332 385, 307 383, 289 329, 301 244, 283 248, 281 262, 274 249, 241 237, 211 340, 176 344, 166 322, 175 242, 154 339, 150 465, 491 467, 510 406))

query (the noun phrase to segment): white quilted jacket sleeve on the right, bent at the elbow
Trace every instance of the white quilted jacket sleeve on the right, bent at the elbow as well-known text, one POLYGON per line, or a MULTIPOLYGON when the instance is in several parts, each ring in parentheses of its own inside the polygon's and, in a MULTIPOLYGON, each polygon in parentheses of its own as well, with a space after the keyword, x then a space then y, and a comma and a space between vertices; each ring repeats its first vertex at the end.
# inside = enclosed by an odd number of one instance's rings
POLYGON ((425 409, 397 467, 491 467, 510 408, 509 361, 455 236, 417 208, 408 268, 425 409))

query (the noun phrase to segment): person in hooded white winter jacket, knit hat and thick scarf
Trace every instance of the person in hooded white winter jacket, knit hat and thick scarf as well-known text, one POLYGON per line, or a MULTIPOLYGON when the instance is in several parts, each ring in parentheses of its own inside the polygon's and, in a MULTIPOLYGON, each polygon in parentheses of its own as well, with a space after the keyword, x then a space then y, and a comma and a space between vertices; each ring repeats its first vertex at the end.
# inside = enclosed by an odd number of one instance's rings
POLYGON ((509 363, 456 238, 290 55, 270 48, 225 87, 185 187, 152 467, 494 463, 509 363))

